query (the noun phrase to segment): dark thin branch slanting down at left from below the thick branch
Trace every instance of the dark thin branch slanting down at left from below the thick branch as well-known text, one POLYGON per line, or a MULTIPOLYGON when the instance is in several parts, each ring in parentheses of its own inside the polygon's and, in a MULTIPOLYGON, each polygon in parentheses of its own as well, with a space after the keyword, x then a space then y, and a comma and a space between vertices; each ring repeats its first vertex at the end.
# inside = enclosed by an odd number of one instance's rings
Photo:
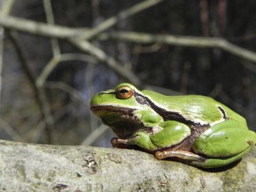
POLYGON ((47 102, 47 99, 45 97, 44 90, 38 86, 36 86, 35 83, 35 77, 33 76, 33 72, 29 68, 28 61, 26 60, 26 56, 24 54, 24 51, 19 44, 19 37, 18 34, 15 31, 10 31, 9 32, 10 39, 13 42, 13 45, 17 51, 17 54, 19 55, 20 58, 20 64, 22 65, 22 69, 24 70, 26 76, 29 79, 29 82, 31 83, 31 86, 35 92, 36 95, 36 100, 38 101, 38 105, 40 107, 40 110, 42 111, 42 114, 45 119, 45 131, 47 133, 47 142, 48 143, 54 143, 53 141, 53 127, 54 127, 54 120, 51 116, 51 110, 49 108, 49 104, 47 102))

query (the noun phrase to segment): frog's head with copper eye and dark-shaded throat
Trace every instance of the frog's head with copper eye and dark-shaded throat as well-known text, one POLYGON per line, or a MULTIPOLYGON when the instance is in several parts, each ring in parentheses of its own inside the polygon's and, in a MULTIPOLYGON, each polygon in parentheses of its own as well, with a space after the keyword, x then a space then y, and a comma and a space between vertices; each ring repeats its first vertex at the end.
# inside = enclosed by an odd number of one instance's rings
POLYGON ((121 138, 145 131, 163 121, 132 84, 122 83, 113 90, 99 92, 91 100, 92 112, 121 138))

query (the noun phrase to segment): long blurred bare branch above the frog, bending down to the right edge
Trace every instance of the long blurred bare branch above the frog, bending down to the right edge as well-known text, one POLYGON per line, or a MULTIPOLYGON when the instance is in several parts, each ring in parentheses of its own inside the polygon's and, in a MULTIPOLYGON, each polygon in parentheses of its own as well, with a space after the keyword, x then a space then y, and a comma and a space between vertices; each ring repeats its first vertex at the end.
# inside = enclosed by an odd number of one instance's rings
POLYGON ((148 33, 134 33, 134 32, 113 32, 113 33, 103 33, 99 36, 100 39, 112 38, 115 40, 123 40, 127 42, 137 42, 141 44, 169 44, 169 45, 179 45, 184 47, 210 47, 219 48, 223 51, 230 52, 236 56, 256 62, 256 53, 244 49, 237 45, 227 42, 223 38, 214 37, 196 37, 196 36, 175 36, 175 35, 151 35, 148 33))

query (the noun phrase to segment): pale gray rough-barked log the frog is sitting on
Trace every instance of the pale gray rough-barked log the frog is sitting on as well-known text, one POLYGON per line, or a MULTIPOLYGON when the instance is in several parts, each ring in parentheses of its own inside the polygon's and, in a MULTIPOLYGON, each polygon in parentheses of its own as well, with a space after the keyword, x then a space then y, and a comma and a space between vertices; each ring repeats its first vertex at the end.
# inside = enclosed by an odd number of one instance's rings
POLYGON ((256 191, 255 154, 206 170, 138 150, 0 140, 0 191, 256 191))

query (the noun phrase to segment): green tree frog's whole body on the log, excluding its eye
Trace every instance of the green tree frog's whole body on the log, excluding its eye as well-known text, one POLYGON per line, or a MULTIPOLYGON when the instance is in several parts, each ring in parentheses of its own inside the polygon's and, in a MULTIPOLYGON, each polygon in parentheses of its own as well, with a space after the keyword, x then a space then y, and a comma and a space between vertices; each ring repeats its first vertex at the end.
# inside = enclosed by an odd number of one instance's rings
POLYGON ((172 157, 204 168, 225 166, 256 142, 242 116, 210 97, 167 96, 123 83, 97 93, 91 109, 119 137, 111 140, 113 147, 135 145, 156 159, 172 157), (130 98, 118 98, 122 86, 131 88, 130 98))

